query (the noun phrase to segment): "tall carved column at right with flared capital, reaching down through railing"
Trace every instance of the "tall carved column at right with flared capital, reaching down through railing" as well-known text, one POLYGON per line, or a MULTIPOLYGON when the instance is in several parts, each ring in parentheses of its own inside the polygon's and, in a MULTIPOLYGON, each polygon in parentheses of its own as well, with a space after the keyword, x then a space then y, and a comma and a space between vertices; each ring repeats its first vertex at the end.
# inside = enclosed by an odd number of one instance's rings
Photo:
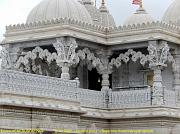
POLYGON ((161 71, 167 65, 170 55, 169 47, 166 42, 149 42, 149 67, 154 71, 152 105, 164 105, 164 86, 162 85, 161 71))

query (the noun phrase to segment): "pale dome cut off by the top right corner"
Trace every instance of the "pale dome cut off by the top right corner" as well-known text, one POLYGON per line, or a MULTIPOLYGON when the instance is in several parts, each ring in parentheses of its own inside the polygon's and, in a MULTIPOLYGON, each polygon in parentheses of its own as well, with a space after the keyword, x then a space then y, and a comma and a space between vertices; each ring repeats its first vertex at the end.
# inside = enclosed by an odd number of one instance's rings
POLYGON ((175 0, 169 6, 162 18, 162 21, 175 24, 180 22, 180 0, 175 0))

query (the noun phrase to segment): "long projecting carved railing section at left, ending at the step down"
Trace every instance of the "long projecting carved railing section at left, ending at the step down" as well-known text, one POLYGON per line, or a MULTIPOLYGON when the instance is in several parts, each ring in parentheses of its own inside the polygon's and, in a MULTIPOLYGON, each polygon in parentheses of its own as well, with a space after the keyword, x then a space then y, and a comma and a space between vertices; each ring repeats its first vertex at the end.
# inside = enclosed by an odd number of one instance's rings
POLYGON ((77 82, 1 70, 0 92, 77 101, 77 82))

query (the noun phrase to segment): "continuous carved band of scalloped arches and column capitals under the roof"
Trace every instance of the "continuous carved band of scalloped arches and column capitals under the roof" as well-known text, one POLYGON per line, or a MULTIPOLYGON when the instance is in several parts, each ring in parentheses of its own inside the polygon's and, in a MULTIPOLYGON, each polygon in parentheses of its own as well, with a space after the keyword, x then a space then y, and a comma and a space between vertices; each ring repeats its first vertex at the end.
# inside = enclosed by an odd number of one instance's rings
MULTIPOLYGON (((74 38, 70 38, 69 40, 58 38, 53 46, 57 52, 50 53, 47 49, 43 50, 40 47, 36 47, 32 51, 25 53, 24 56, 18 58, 14 68, 28 73, 51 76, 49 72, 52 70, 52 66, 54 67, 54 71, 56 70, 61 73, 60 68, 63 69, 65 66, 70 67, 73 64, 78 64, 80 61, 87 61, 88 69, 96 68, 100 74, 103 74, 103 72, 111 74, 113 66, 119 68, 122 63, 128 63, 130 60, 133 62, 139 60, 143 66, 149 63, 150 67, 157 64, 165 65, 166 62, 171 62, 173 67, 175 67, 175 61, 169 52, 167 43, 164 43, 161 48, 150 44, 148 46, 149 54, 147 55, 140 51, 136 52, 133 49, 129 49, 127 52, 119 54, 117 58, 113 58, 110 61, 107 57, 99 58, 88 48, 76 52, 78 45, 74 38), (42 62, 42 60, 45 62, 42 62)), ((10 69, 12 65, 9 52, 6 48, 3 48, 1 57, 2 68, 10 69)), ((68 72, 65 69, 65 73, 68 72)))

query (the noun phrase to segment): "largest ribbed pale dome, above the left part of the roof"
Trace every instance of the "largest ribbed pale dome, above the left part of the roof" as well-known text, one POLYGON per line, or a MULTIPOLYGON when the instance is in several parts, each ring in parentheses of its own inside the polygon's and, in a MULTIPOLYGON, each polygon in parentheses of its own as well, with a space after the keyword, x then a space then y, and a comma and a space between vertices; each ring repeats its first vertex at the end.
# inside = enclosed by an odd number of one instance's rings
POLYGON ((71 18, 93 23, 86 8, 76 0, 43 0, 30 12, 27 23, 55 18, 71 18))

